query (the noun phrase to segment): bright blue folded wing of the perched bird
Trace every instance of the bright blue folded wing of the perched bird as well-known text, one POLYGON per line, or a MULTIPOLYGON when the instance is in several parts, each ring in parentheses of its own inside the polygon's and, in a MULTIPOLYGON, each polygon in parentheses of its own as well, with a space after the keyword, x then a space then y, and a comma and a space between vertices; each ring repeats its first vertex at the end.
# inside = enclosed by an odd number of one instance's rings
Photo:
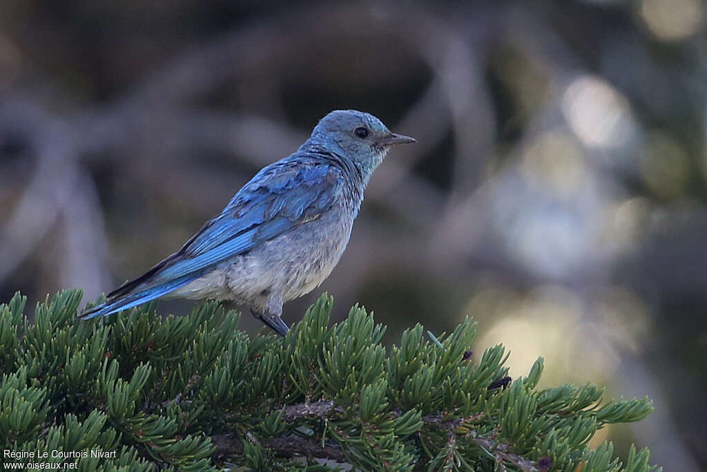
POLYGON ((194 274, 317 218, 332 206, 343 179, 339 168, 328 164, 281 161, 264 168, 180 251, 109 299, 194 274))

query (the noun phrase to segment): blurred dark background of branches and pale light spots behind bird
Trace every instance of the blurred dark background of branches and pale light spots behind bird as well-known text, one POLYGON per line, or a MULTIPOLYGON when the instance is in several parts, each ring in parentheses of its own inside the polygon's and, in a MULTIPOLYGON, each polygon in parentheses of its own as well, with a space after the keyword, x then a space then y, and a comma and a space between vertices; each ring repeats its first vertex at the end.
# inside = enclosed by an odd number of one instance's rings
POLYGON ((388 339, 471 314, 512 374, 543 355, 546 381, 648 394, 640 430, 607 434, 697 471, 704 15, 699 0, 5 1, 0 294, 97 297, 329 110, 366 110, 418 143, 376 172, 322 290, 374 309, 388 339))

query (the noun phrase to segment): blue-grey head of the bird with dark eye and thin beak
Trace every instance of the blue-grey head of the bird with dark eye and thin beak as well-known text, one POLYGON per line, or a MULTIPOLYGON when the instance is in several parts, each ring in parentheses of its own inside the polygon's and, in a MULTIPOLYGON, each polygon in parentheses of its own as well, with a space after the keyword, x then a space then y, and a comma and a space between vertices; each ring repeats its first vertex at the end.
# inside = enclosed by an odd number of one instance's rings
POLYGON ((334 110, 320 120, 309 141, 348 159, 368 180, 390 146, 415 139, 391 132, 370 113, 334 110))

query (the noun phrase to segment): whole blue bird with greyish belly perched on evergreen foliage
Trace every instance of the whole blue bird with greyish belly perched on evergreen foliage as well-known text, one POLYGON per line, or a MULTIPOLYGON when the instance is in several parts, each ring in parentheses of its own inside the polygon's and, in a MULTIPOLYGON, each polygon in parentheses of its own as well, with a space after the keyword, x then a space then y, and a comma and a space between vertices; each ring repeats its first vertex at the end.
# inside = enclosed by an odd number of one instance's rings
POLYGON ((392 146, 413 142, 369 113, 328 113, 296 152, 262 168, 179 251, 78 317, 161 297, 228 300, 285 336, 283 305, 329 276, 373 171, 392 146))

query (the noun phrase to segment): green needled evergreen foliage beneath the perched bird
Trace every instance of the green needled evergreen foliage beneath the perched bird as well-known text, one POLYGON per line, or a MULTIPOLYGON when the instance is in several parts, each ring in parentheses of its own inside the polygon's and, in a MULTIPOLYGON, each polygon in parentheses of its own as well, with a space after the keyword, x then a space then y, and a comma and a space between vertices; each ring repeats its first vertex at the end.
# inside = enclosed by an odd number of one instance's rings
POLYGON ((612 444, 588 447, 604 425, 648 415, 647 399, 538 390, 542 358, 511 381, 503 346, 472 359, 469 319, 439 338, 415 326, 387 351, 360 306, 329 328, 326 295, 284 340, 249 338, 215 302, 78 321, 80 301, 61 292, 32 323, 20 294, 0 305, 2 449, 81 471, 660 470, 647 449, 621 464, 612 444))

